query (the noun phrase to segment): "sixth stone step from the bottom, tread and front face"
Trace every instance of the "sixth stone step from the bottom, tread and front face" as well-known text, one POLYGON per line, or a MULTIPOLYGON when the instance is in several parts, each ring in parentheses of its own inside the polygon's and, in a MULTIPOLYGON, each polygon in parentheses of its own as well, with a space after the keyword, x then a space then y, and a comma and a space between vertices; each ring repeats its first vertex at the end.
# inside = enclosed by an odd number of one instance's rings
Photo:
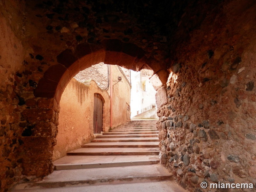
POLYGON ((143 141, 160 141, 158 137, 134 137, 134 138, 96 138, 92 140, 92 143, 95 142, 143 142, 143 141))

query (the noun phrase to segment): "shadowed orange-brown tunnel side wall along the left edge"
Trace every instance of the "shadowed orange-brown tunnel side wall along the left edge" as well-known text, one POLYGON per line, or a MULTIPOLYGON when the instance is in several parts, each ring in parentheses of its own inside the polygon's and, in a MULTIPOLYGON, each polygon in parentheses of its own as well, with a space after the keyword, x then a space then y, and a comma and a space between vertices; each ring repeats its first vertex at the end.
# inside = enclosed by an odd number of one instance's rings
POLYGON ((20 83, 16 70, 25 64, 21 42, 25 4, 3 0, 0 7, 0 191, 4 191, 22 175, 17 150, 21 145, 17 137, 20 116, 16 112, 24 100, 21 92, 14 90, 20 83))

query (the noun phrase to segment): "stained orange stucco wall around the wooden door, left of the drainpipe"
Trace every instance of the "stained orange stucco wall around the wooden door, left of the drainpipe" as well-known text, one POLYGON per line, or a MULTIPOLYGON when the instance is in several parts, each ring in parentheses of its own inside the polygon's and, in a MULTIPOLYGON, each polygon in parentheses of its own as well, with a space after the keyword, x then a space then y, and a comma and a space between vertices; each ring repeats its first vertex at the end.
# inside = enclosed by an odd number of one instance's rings
POLYGON ((107 91, 101 90, 92 80, 82 84, 71 79, 60 100, 60 113, 57 144, 53 150, 53 161, 66 156, 68 151, 81 148, 81 145, 91 142, 93 134, 93 101, 94 93, 99 93, 103 99, 102 129, 108 132, 110 126, 110 102, 107 91))

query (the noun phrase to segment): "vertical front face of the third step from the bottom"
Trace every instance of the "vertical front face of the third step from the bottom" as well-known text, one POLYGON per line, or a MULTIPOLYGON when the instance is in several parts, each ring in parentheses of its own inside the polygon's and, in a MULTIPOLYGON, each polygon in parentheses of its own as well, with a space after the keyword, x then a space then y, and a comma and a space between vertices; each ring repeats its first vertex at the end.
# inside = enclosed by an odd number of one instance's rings
POLYGON ((159 160, 137 161, 137 162, 100 163, 100 164, 63 164, 63 165, 55 165, 54 170, 123 167, 123 166, 133 166, 133 165, 151 165, 151 164, 158 164, 158 163, 159 163, 159 160))

